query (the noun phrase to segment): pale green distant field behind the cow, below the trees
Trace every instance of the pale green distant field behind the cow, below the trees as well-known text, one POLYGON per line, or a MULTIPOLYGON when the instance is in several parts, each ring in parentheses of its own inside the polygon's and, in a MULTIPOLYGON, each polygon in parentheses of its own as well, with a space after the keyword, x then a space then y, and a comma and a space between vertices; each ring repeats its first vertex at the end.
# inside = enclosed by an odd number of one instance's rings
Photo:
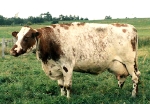
MULTIPOLYGON (((64 23, 66 21, 60 21, 64 23)), ((74 22, 74 21, 69 21, 74 22)), ((91 21, 80 21, 80 22, 92 22, 92 23, 128 23, 132 24, 138 30, 139 37, 150 37, 150 18, 134 18, 134 19, 110 19, 110 20, 91 20, 91 21)), ((31 25, 33 28, 40 28, 50 25, 50 22, 43 24, 31 25)), ((0 38, 11 38, 13 31, 19 31, 22 26, 0 26, 0 38)))

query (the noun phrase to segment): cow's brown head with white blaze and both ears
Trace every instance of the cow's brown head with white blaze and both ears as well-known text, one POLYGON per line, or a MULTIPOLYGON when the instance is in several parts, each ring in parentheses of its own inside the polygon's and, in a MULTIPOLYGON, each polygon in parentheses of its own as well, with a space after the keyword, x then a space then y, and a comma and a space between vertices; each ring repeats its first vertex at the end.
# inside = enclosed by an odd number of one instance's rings
POLYGON ((17 41, 10 50, 10 54, 13 56, 19 56, 26 53, 28 49, 31 49, 35 45, 35 38, 39 35, 39 32, 25 26, 22 27, 19 32, 12 32, 12 35, 17 39, 17 41))

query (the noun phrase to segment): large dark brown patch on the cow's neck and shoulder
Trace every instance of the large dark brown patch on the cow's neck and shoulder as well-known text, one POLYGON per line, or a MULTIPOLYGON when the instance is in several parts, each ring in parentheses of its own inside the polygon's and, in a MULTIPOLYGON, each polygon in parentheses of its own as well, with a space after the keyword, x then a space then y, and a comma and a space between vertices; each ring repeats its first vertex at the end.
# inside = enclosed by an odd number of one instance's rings
POLYGON ((53 59, 55 61, 59 60, 60 55, 62 55, 63 52, 53 28, 45 27, 37 30, 41 34, 39 44, 40 59, 44 63, 47 63, 49 59, 53 59))

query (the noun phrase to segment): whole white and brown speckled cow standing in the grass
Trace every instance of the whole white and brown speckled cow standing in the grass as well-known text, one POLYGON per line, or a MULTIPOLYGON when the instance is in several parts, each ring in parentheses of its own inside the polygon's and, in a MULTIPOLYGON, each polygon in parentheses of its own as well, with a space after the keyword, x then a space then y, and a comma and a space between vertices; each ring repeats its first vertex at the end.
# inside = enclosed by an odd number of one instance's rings
POLYGON ((137 66, 138 36, 131 24, 66 23, 33 29, 23 26, 12 32, 17 41, 10 50, 20 56, 36 46, 42 69, 58 81, 61 95, 70 98, 73 71, 100 74, 112 72, 118 86, 132 77, 136 97, 140 71, 137 66))

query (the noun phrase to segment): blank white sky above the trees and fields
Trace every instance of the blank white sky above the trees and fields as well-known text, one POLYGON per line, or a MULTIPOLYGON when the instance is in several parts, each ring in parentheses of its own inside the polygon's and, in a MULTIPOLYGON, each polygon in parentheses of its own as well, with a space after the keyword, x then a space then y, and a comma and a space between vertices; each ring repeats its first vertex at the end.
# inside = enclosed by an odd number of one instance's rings
POLYGON ((10 18, 37 17, 49 12, 52 17, 75 15, 89 20, 150 17, 150 0, 1 0, 0 15, 10 18))

